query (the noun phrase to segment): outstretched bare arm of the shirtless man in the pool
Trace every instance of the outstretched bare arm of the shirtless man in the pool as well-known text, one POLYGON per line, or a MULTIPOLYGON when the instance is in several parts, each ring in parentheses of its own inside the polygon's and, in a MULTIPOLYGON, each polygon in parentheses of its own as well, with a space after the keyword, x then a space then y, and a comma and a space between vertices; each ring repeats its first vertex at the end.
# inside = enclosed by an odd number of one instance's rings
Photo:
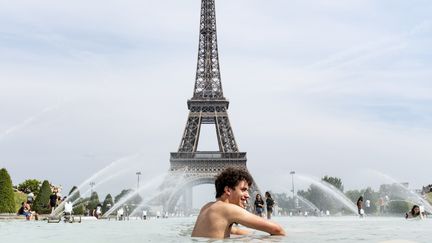
POLYGON ((271 235, 285 235, 285 230, 277 223, 258 217, 236 205, 229 205, 232 222, 246 227, 265 231, 271 235))

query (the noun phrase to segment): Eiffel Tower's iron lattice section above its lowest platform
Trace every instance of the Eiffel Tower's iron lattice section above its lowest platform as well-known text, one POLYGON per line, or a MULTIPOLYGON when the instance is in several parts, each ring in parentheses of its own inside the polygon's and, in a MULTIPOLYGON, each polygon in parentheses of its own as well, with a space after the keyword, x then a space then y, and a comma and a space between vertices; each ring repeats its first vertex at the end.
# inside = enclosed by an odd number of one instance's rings
POLYGON ((188 100, 189 118, 178 151, 197 152, 201 125, 215 124, 219 152, 239 152, 228 119, 228 105, 220 79, 215 3, 202 0, 195 88, 188 100))

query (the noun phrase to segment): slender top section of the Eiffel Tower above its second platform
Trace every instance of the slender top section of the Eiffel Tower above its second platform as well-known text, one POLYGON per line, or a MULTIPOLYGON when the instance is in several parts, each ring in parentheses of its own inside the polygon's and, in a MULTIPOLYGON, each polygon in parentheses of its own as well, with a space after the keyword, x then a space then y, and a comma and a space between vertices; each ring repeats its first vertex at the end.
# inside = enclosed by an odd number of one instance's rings
POLYGON ((219 70, 214 0, 202 0, 193 100, 225 99, 219 70))

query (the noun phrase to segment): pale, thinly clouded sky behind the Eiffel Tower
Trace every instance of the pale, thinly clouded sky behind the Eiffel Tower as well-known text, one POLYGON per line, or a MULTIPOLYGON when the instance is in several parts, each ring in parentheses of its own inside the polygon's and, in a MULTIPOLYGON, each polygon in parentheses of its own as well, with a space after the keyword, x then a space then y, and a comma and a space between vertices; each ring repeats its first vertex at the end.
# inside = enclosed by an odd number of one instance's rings
MULTIPOLYGON (((0 1, 0 167, 67 190, 138 152, 122 165, 132 175, 167 171, 199 11, 197 0, 0 1)), ((348 189, 386 182, 365 169, 431 183, 431 12, 426 0, 216 1, 231 123, 263 188, 289 187, 291 170, 348 189)), ((213 149, 207 131, 200 146, 213 149)))

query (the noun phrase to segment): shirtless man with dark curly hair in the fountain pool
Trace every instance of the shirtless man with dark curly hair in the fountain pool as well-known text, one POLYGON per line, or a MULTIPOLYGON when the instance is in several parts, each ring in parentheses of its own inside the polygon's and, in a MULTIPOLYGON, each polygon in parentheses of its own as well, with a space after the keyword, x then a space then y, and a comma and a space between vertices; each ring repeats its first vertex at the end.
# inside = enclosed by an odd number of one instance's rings
POLYGON ((248 189, 252 183, 252 176, 245 170, 227 168, 222 171, 215 181, 216 201, 201 208, 192 237, 228 238, 230 234, 249 233, 234 227, 233 224, 241 224, 272 235, 285 235, 279 224, 245 210, 249 198, 248 189))

